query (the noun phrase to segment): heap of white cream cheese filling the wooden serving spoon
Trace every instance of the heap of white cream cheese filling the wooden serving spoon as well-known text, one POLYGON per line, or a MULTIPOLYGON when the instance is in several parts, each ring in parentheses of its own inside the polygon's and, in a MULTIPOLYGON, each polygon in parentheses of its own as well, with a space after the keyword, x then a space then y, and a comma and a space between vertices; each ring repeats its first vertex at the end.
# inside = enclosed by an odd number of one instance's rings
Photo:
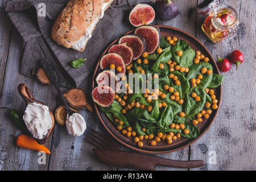
POLYGON ((49 107, 36 102, 27 105, 23 120, 33 137, 38 139, 43 139, 52 127, 49 107))

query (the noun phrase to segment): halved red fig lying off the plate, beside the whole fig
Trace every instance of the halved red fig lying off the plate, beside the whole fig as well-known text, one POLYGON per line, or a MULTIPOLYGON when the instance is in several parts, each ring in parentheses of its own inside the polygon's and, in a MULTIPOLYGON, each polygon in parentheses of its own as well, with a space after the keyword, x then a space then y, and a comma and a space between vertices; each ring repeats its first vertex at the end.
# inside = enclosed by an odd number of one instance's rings
POLYGON ((155 10, 147 4, 138 4, 134 6, 129 15, 130 23, 134 27, 150 24, 155 19, 155 10))

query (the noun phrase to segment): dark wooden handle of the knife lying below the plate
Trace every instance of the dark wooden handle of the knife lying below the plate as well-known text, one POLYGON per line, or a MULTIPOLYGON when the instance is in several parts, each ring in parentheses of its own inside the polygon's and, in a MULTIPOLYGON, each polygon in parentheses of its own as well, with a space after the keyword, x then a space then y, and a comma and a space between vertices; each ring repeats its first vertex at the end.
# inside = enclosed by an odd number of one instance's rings
POLYGON ((188 161, 182 161, 182 160, 171 160, 171 159, 159 159, 156 162, 157 165, 161 166, 171 166, 171 167, 179 167, 179 168, 197 168, 204 166, 205 162, 204 160, 188 160, 188 161))

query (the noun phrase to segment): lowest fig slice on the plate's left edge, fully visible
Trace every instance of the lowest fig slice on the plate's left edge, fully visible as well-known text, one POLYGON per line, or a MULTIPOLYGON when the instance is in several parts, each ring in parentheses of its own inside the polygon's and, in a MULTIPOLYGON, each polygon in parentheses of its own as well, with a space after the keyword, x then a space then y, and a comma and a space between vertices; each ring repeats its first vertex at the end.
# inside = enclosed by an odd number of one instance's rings
POLYGON ((97 86, 92 90, 92 98, 101 107, 108 107, 114 101, 115 92, 109 86, 97 86))

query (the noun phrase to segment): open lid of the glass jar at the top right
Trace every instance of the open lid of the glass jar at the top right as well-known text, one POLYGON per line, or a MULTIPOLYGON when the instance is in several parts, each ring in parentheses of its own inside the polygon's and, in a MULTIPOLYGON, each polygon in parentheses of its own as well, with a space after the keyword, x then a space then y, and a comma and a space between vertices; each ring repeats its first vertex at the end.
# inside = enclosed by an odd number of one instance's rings
POLYGON ((196 12, 201 15, 212 13, 213 9, 220 6, 221 2, 218 0, 204 0, 196 9, 196 12))

